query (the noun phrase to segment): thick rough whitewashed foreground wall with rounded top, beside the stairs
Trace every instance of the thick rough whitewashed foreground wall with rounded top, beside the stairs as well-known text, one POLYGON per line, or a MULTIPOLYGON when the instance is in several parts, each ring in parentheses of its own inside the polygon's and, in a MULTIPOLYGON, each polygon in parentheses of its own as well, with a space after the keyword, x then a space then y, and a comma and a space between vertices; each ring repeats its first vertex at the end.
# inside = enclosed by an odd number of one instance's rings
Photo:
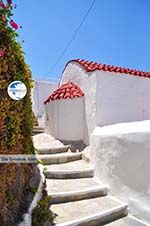
POLYGON ((150 121, 96 127, 90 143, 96 176, 150 224, 150 121))

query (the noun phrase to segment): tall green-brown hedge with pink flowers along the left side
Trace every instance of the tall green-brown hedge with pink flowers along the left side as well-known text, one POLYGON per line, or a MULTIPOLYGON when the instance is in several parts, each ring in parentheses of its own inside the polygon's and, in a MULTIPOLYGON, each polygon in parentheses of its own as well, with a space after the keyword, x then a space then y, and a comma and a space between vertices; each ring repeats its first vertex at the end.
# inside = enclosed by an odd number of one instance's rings
MULTIPOLYGON (((11 0, 0 0, 0 154, 30 154, 34 153, 31 72, 16 41, 19 26, 12 20, 13 8, 11 0), (14 80, 27 86, 23 100, 14 101, 7 94, 14 80)), ((31 164, 0 164, 0 225, 16 225, 32 172, 31 164)))

